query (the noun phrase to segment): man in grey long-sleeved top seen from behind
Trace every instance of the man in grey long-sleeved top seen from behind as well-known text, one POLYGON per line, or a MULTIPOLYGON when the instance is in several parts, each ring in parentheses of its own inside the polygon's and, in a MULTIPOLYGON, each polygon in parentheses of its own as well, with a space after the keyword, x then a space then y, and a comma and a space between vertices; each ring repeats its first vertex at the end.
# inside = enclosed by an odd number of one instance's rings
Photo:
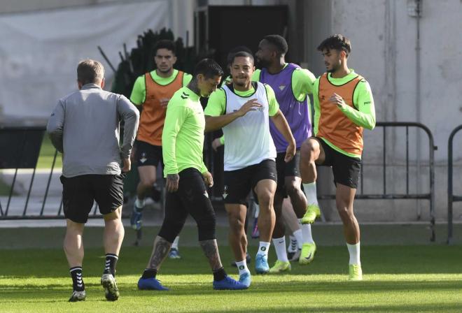
POLYGON ((130 170, 130 152, 139 112, 120 94, 105 92, 104 68, 86 59, 77 66, 78 91, 59 99, 48 120, 52 144, 62 152, 62 202, 66 217, 64 252, 73 293, 69 301, 85 300, 82 277, 83 228, 96 201, 104 217, 106 260, 101 284, 107 300, 118 300, 116 263, 124 237, 121 220, 123 177, 130 170), (122 148, 120 122, 125 122, 122 148), (123 168, 119 164, 123 161, 123 168))

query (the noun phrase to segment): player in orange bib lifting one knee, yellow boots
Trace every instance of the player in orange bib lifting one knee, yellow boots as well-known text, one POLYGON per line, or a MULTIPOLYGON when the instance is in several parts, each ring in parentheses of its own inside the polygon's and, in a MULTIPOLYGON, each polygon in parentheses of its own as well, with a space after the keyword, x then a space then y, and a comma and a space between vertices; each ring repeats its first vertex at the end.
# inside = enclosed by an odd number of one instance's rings
POLYGON ((363 129, 374 129, 374 99, 369 83, 348 68, 351 52, 348 38, 332 35, 318 50, 323 54, 324 73, 314 82, 314 136, 302 145, 300 171, 308 209, 303 224, 311 224, 319 212, 316 199, 316 165, 331 166, 337 210, 343 222, 349 251, 349 279, 361 280, 360 232, 353 213, 353 200, 363 152, 363 129))

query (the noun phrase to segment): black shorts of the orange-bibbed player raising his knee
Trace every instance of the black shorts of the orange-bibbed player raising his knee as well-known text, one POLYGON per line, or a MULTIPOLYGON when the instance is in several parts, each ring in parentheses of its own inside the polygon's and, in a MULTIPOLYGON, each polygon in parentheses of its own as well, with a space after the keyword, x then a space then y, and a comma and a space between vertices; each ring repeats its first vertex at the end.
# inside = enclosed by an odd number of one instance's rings
POLYGON ((332 166, 334 173, 334 183, 343 184, 350 188, 358 188, 359 173, 361 170, 361 159, 348 157, 330 147, 321 138, 317 138, 320 145, 323 147, 325 159, 321 166, 332 166))

